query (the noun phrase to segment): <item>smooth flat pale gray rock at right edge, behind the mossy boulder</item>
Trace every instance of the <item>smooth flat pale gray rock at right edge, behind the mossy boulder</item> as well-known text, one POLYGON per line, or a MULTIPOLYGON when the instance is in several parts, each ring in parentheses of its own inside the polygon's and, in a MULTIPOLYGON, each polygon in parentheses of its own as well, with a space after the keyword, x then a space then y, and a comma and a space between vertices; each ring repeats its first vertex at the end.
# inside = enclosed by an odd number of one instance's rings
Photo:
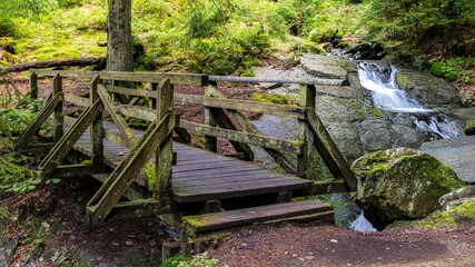
POLYGON ((475 136, 424 142, 418 150, 451 166, 462 180, 475 182, 475 136))

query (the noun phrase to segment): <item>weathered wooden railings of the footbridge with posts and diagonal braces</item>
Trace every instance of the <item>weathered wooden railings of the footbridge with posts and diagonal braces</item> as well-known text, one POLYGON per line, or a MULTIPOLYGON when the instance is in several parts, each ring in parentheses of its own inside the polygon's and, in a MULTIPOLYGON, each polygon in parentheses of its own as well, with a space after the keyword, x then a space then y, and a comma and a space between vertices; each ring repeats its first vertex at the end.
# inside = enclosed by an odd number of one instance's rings
MULTIPOLYGON (((235 82, 261 82, 256 78, 210 77, 199 75, 162 75, 145 72, 107 72, 107 71, 62 71, 62 70, 30 70, 30 95, 38 96, 38 76, 52 77, 52 87, 47 89, 47 99, 40 109, 38 118, 18 139, 16 149, 22 149, 38 131, 42 122, 53 116, 53 148, 41 162, 43 177, 103 172, 103 145, 106 138, 112 142, 130 148, 130 154, 113 170, 99 191, 88 204, 91 221, 99 224, 118 202, 125 190, 144 167, 150 166, 149 158, 155 154, 156 185, 159 202, 164 212, 169 210, 166 204, 171 201, 171 130, 189 142, 188 131, 205 135, 205 147, 217 151, 217 138, 231 142, 238 155, 246 160, 254 159, 249 145, 259 146, 287 172, 300 177, 308 176, 314 156, 318 152, 335 178, 346 181, 349 189, 356 189, 356 179, 343 158, 338 148, 326 131, 315 110, 316 88, 318 85, 344 86, 344 80, 301 80, 299 105, 276 105, 237 100, 226 98, 219 90, 217 81, 232 80, 235 82), (62 78, 80 78, 90 80, 89 98, 78 97, 62 90, 62 78), (133 89, 123 82, 140 82, 146 89, 133 89), (174 86, 192 86, 205 89, 204 96, 174 93, 174 86), (112 97, 110 95, 112 95, 112 97), (128 103, 118 103, 113 98, 128 97, 128 103), (137 106, 139 99, 148 98, 149 106, 137 106), (63 115, 62 101, 73 103, 83 109, 79 118, 63 115), (205 109, 204 123, 179 120, 172 113, 174 101, 199 103, 205 109), (299 132, 297 140, 284 140, 264 136, 241 111, 268 113, 296 119, 299 132), (102 127, 102 111, 111 117, 119 129, 113 131, 102 127), (141 138, 133 136, 122 116, 151 121, 141 138), (71 128, 63 134, 63 123, 71 128), (66 154, 72 148, 79 137, 90 127, 91 161, 90 166, 59 166, 66 154), (159 146, 159 149, 152 149, 159 146), (291 160, 287 154, 295 154, 297 160, 291 160), (59 168, 60 167, 60 168, 59 168), (59 170, 60 169, 60 170, 59 170), (56 174, 55 174, 56 171, 56 174)), ((294 82, 296 81, 278 81, 294 82)), ((308 177, 310 178, 310 177, 308 177)))

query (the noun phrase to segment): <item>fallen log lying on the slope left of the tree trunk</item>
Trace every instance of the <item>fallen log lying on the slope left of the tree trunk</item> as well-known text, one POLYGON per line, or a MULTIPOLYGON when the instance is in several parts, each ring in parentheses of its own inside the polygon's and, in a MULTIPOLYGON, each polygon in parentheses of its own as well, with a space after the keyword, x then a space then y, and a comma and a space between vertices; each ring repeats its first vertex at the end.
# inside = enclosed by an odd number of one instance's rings
POLYGON ((41 68, 53 68, 62 66, 97 66, 98 69, 106 67, 106 58, 92 57, 92 58, 67 58, 67 59, 53 59, 47 61, 33 61, 18 65, 10 65, 3 67, 3 70, 8 72, 18 72, 29 69, 41 69, 41 68))

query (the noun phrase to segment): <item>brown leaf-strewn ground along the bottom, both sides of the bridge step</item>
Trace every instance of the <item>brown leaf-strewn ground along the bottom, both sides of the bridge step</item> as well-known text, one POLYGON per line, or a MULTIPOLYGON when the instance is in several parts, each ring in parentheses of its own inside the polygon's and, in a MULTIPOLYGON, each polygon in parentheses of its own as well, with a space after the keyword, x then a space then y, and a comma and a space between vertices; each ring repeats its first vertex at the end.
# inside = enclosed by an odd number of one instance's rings
MULTIPOLYGON (((0 202, 11 210, 0 235, 8 244, 0 254, 10 249, 4 266, 158 266, 161 244, 178 233, 157 218, 89 226, 85 206, 98 186, 63 179, 0 202)), ((254 225, 217 233, 225 238, 206 254, 236 267, 475 266, 475 221, 437 231, 416 225, 378 233, 330 222, 254 225)))

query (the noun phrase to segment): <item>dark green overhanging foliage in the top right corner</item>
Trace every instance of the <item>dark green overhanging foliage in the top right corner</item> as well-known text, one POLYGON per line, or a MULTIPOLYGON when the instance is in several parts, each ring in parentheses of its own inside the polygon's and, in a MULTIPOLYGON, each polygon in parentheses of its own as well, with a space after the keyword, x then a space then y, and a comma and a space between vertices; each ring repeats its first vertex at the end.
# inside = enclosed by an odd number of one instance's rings
POLYGON ((369 36, 383 41, 388 50, 409 58, 422 53, 423 47, 431 42, 447 50, 463 38, 462 26, 475 23, 473 0, 366 2, 370 8, 365 18, 369 36))

